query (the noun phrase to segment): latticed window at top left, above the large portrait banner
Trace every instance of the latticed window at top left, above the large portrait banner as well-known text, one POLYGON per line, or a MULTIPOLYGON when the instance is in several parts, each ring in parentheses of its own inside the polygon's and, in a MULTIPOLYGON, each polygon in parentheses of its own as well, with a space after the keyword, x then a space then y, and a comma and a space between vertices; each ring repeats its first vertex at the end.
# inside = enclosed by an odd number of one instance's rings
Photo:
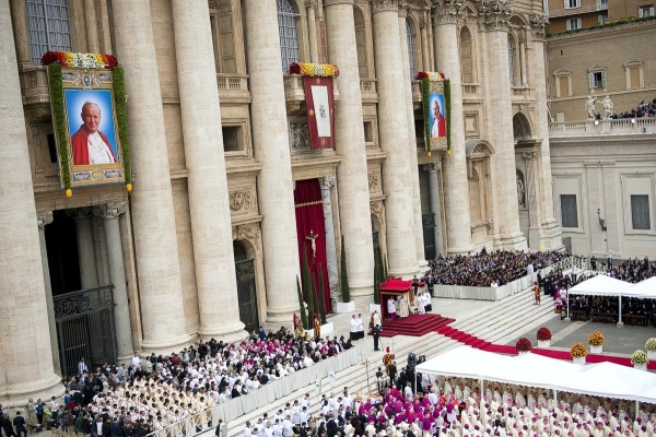
POLYGON ((48 51, 71 51, 68 0, 26 0, 32 62, 48 51))

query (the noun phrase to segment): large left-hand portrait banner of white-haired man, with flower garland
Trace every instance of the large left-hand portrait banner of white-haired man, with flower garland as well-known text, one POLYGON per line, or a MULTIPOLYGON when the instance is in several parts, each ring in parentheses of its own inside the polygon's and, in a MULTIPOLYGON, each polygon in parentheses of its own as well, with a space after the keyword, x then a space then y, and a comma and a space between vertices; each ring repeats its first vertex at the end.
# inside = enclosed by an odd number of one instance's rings
POLYGON ((48 86, 59 178, 75 188, 126 184, 131 190, 124 71, 110 55, 48 51, 48 86))

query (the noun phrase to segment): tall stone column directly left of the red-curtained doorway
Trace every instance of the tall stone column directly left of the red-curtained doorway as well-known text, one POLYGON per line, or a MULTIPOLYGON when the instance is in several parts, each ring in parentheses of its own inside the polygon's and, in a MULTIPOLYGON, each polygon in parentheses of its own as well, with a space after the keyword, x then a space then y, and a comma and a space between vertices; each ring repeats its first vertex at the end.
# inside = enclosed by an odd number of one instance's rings
POLYGON ((257 191, 263 215, 267 321, 280 326, 291 323, 298 310, 293 291, 301 273, 278 13, 274 0, 245 0, 244 4, 253 145, 262 166, 257 191))

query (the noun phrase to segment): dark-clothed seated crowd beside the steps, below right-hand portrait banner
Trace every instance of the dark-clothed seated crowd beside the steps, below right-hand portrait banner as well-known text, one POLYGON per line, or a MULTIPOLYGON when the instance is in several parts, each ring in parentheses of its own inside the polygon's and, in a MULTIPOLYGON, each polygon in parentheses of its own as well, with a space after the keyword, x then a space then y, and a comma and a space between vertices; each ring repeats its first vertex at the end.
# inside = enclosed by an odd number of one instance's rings
POLYGON ((570 257, 566 252, 496 250, 477 255, 437 256, 422 281, 438 285, 502 286, 570 257))

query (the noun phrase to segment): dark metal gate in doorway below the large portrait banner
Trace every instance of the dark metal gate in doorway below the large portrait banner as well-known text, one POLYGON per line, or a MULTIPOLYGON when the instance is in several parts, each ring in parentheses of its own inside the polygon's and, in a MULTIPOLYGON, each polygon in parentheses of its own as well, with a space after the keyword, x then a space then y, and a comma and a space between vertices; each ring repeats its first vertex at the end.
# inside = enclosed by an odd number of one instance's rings
POLYGON ((82 357, 89 370, 116 363, 114 285, 55 296, 55 322, 62 376, 78 374, 82 357))

